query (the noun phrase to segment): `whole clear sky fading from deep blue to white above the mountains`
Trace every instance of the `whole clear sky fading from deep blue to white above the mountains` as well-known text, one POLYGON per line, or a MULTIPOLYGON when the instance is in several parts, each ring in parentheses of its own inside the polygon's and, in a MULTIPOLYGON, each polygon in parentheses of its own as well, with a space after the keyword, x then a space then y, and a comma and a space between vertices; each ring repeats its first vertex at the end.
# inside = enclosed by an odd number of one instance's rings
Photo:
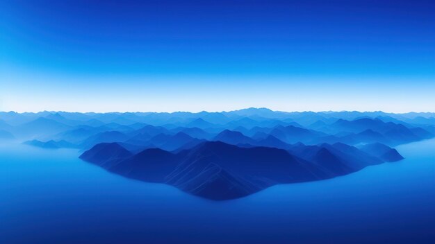
POLYGON ((1 1, 0 110, 435 111, 433 1, 1 1))

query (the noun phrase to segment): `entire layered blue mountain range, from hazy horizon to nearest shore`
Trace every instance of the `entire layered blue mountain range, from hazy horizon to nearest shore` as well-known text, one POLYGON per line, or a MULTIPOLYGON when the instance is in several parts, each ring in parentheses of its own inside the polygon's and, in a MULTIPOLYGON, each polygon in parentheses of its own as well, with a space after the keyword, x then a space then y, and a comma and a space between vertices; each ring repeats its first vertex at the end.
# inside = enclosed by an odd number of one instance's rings
POLYGON ((434 134, 434 113, 0 112, 1 141, 78 148, 108 171, 213 200, 395 162, 391 147, 434 134))

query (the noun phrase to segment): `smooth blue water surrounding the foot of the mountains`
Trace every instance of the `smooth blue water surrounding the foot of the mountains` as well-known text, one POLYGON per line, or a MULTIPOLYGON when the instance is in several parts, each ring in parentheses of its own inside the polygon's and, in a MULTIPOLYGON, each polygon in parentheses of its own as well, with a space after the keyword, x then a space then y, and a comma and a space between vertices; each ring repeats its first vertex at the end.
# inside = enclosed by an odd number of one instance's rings
POLYGON ((435 139, 401 162, 214 202, 76 150, 0 145, 0 243, 435 243, 435 139))

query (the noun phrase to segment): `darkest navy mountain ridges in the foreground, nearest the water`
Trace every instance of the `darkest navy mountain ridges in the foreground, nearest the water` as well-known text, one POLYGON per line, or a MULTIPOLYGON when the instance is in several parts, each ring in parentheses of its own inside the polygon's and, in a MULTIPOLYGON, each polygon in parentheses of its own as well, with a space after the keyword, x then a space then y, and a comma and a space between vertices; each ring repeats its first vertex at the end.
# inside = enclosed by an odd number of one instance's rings
POLYGON ((213 200, 240 198, 274 184, 323 180, 383 162, 339 143, 299 143, 290 152, 205 141, 177 153, 149 148, 132 155, 118 143, 101 143, 83 153, 81 159, 126 177, 170 184, 213 200))

